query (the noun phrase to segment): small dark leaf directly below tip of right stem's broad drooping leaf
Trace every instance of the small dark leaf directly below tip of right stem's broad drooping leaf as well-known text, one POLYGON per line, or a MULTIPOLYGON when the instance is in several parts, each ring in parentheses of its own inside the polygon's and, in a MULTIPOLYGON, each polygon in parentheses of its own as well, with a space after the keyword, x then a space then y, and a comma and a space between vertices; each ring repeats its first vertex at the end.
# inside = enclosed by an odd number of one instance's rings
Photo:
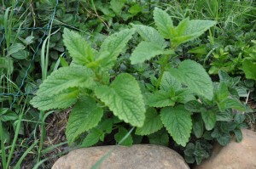
POLYGON ((207 130, 212 130, 217 120, 217 113, 214 110, 201 109, 201 117, 205 122, 207 130))

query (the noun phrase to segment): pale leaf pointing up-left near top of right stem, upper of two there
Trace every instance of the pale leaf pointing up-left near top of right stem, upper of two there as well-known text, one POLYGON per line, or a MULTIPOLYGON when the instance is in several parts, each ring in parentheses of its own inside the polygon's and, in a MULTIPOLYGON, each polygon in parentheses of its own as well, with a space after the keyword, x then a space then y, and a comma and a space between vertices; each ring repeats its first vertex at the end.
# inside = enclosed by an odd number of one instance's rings
POLYGON ((153 27, 148 25, 132 25, 138 32, 138 34, 143 37, 146 42, 157 43, 161 48, 166 48, 166 40, 160 36, 159 32, 153 27))

